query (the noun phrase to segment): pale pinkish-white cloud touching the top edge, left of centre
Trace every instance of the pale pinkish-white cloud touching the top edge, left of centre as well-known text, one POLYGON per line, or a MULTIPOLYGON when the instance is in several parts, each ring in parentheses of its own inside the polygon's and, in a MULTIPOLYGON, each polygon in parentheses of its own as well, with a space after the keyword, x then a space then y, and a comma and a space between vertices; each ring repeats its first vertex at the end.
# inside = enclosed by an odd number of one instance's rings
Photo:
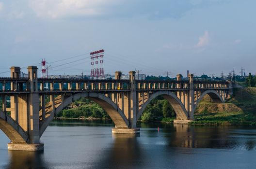
POLYGON ((38 17, 60 18, 69 16, 102 15, 107 7, 123 0, 29 0, 29 6, 38 17))

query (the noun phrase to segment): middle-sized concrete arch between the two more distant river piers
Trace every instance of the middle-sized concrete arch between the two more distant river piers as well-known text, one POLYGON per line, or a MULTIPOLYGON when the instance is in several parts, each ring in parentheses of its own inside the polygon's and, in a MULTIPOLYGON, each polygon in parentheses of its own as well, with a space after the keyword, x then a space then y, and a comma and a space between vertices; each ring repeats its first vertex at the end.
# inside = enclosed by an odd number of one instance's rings
POLYGON ((171 106, 173 107, 177 119, 179 120, 187 120, 188 119, 188 113, 186 111, 186 108, 184 107, 184 105, 182 104, 182 102, 180 101, 180 99, 178 99, 178 97, 170 91, 158 91, 156 93, 153 93, 148 99, 147 101, 142 105, 141 109, 138 111, 137 113, 137 120, 141 117, 142 113, 144 112, 146 106, 156 97, 158 96, 162 96, 164 99, 166 99, 171 106))

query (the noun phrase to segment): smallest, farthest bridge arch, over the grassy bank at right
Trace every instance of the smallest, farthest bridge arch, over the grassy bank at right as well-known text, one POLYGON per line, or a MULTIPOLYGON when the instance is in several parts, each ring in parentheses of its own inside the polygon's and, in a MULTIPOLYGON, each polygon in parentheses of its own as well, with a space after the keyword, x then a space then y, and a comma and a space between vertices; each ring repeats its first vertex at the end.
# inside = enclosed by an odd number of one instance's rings
POLYGON ((194 111, 196 110, 199 102, 206 96, 208 95, 214 103, 224 103, 225 100, 221 97, 221 95, 216 91, 216 90, 207 90, 205 92, 203 92, 200 96, 200 98, 196 101, 195 105, 194 105, 194 111))

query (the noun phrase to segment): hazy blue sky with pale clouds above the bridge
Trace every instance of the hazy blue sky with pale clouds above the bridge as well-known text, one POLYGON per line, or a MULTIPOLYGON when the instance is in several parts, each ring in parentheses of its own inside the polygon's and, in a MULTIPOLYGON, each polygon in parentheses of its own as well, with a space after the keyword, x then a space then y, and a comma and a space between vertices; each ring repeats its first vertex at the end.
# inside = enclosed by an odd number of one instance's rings
POLYGON ((0 0, 0 72, 46 58, 49 74, 89 74, 87 53, 104 49, 111 74, 220 76, 241 67, 255 74, 255 6, 255 0, 0 0), (81 54, 87 55, 55 62, 81 54))

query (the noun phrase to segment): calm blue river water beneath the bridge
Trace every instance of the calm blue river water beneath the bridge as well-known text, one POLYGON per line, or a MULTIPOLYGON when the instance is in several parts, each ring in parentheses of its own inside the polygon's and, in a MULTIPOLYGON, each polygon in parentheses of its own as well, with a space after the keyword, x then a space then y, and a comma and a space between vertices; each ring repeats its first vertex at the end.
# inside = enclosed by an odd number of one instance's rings
POLYGON ((7 151, 0 131, 0 169, 256 169, 256 127, 143 123, 137 137, 112 127, 54 120, 40 153, 7 151))

